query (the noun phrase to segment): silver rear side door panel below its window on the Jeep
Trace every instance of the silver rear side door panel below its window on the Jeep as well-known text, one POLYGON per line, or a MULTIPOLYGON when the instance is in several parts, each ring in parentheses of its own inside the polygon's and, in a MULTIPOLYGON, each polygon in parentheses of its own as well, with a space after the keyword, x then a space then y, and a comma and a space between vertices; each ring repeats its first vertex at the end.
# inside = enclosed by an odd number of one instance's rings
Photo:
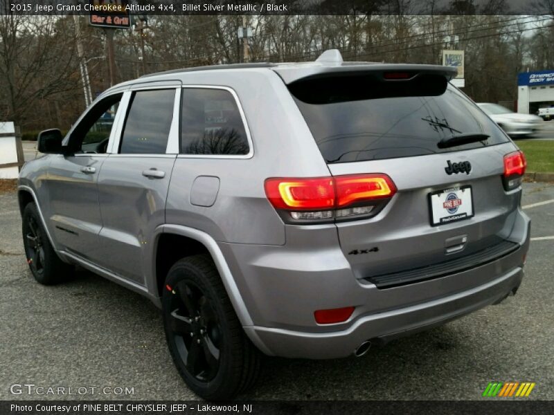
MULTIPOLYGON (((166 197, 175 156, 111 154, 98 178, 102 230, 98 265, 145 284, 150 272, 150 245, 166 220, 166 197), (157 169, 162 178, 143 176, 157 169)), ((155 287, 155 284, 154 284, 155 287)))

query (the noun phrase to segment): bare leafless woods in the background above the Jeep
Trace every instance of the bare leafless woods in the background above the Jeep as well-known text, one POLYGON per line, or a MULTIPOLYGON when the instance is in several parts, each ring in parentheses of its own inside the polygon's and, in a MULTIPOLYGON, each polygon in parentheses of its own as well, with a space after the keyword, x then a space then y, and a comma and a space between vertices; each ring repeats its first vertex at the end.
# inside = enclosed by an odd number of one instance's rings
MULTIPOLYGON (((503 0, 492 2, 496 15, 454 6, 437 12, 429 1, 429 15, 409 15, 409 0, 395 1, 404 3, 395 15, 249 16, 250 60, 310 61, 338 48, 350 61, 441 64, 444 37, 458 35, 455 48, 465 50, 465 93, 477 102, 505 103, 517 98, 517 73, 554 69, 554 12, 502 15, 503 0)), ((0 16, 1 120, 24 132, 71 126, 85 107, 78 42, 93 98, 109 87, 105 32, 89 26, 88 16, 79 19, 78 37, 72 16, 0 16)), ((142 39, 140 30, 116 30, 116 80, 242 62, 240 27, 242 16, 149 16, 142 39)))

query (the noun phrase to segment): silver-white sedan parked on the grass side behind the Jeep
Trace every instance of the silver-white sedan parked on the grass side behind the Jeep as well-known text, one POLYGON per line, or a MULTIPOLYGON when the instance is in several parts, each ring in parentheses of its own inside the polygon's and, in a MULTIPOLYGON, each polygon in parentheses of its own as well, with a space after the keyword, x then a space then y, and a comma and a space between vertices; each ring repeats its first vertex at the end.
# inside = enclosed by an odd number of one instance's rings
POLYGON ((533 114, 521 114, 510 111, 499 104, 477 104, 510 137, 530 136, 536 133, 542 124, 542 118, 533 114))

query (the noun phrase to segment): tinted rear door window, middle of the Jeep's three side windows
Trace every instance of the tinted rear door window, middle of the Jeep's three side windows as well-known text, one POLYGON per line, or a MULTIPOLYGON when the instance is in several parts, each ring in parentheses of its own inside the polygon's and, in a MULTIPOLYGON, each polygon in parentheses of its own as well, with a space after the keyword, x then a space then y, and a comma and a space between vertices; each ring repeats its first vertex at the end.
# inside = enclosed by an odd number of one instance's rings
POLYGON ((120 154, 165 154, 173 120, 175 89, 133 93, 120 154))

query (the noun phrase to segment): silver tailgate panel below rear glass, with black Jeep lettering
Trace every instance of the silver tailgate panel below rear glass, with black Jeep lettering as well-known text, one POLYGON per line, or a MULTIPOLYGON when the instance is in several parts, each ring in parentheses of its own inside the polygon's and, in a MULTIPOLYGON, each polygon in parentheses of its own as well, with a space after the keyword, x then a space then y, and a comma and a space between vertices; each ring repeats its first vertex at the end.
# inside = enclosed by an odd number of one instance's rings
MULTIPOLYGON (((519 205, 519 192, 506 192, 501 180, 503 156, 513 150, 507 143, 456 154, 329 165, 334 176, 384 172, 397 187, 393 199, 377 216, 337 222, 341 249, 357 278, 440 264, 504 241, 519 205), (472 170, 469 175, 449 175, 445 171, 449 161, 470 162, 472 170), (430 195, 465 186, 472 197, 463 203, 471 203, 473 216, 434 225, 430 195)), ((436 213, 451 216, 447 208, 436 213)))

